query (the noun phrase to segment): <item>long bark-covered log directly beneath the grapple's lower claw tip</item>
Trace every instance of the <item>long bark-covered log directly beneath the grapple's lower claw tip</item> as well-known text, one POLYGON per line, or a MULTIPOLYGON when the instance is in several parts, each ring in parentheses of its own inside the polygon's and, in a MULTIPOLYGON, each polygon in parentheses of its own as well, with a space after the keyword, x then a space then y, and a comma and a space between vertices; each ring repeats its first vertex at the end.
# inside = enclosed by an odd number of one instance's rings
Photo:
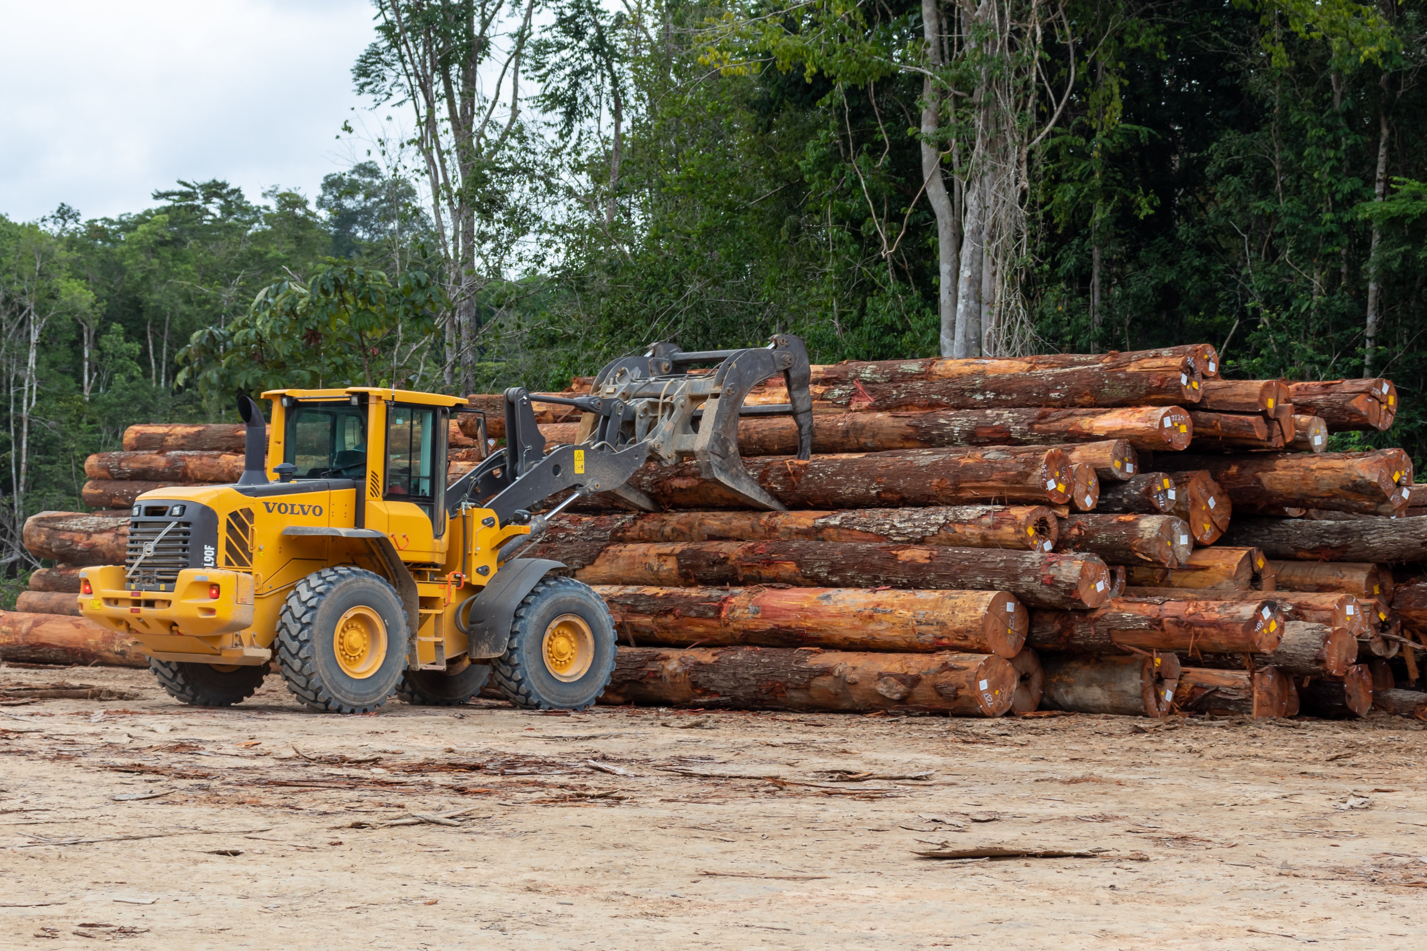
POLYGON ((1049 552, 1059 519, 1043 505, 963 505, 843 512, 562 512, 544 542, 585 546, 585 562, 606 545, 641 542, 902 542, 942 548, 1049 552))

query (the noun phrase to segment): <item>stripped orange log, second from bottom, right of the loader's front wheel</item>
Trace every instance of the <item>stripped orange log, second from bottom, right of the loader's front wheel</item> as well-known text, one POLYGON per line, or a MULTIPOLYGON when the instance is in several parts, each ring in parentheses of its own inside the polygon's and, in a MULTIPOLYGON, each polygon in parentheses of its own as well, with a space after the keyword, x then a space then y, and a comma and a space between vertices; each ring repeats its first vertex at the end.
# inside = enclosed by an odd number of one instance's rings
POLYGON ((595 587, 629 646, 748 644, 1015 657, 1030 616, 1007 592, 595 587))

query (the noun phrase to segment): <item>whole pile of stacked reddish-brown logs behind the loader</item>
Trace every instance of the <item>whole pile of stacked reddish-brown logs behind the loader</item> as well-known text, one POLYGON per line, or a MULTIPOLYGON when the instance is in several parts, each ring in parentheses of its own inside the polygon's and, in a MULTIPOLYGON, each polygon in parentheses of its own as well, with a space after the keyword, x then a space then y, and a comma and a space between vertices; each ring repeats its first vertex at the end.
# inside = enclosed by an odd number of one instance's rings
MULTIPOLYGON (((1219 369, 1207 345, 815 366, 811 459, 788 416, 738 431, 788 510, 649 463, 632 485, 662 510, 584 499, 524 556, 609 606, 606 703, 1427 719, 1427 576, 1390 567, 1427 562, 1427 486, 1414 500, 1398 449, 1327 452, 1387 429, 1396 389, 1219 369)), ((786 399, 775 378, 748 402, 786 399)), ((469 401, 485 416, 452 425, 452 476, 505 435, 501 395, 469 401)), ((537 418, 548 443, 579 438, 569 406, 537 418)), ((240 469, 237 426, 136 426, 90 459, 86 500, 240 469)), ((66 566, 123 552, 117 523, 34 533, 61 566, 21 610, 61 612, 66 566)))

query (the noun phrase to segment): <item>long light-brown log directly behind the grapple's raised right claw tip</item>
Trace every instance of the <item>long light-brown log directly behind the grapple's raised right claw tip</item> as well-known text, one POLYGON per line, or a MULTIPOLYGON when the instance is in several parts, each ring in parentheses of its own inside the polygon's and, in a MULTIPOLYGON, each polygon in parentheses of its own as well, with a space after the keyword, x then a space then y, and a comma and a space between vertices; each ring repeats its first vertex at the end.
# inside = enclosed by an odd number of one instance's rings
MULTIPOLYGON (((542 425, 547 441, 574 442, 575 423, 542 425)), ((1122 409, 929 409, 905 412, 818 412, 815 453, 883 452, 940 446, 1059 445, 1122 439, 1144 449, 1183 449, 1192 431, 1179 406, 1122 409)), ((798 452, 792 416, 745 416, 738 423, 743 456, 798 452)))

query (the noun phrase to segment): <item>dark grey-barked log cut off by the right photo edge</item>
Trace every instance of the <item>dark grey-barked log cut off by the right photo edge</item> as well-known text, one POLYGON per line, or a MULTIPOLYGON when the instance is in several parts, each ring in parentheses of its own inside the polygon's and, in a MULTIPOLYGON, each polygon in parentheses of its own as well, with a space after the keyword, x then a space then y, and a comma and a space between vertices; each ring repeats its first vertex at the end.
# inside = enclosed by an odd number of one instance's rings
POLYGON ((1427 516, 1397 519, 1234 519, 1229 545, 1256 545, 1274 559, 1300 562, 1427 560, 1427 516))

